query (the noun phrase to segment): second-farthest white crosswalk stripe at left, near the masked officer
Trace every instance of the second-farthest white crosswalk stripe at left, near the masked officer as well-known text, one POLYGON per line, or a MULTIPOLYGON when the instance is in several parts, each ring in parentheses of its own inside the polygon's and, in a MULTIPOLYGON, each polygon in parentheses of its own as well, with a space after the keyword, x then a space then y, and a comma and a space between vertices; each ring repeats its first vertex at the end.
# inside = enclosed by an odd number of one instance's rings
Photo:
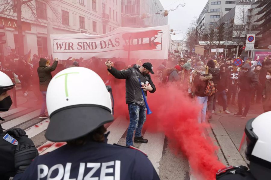
POLYGON ((22 124, 22 123, 24 123, 24 122, 26 122, 26 121, 28 121, 30 119, 33 119, 33 118, 39 116, 39 113, 40 113, 40 110, 36 110, 36 111, 33 111, 33 112, 28 113, 26 115, 15 118, 15 119, 13 119, 11 121, 5 122, 5 123, 3 123, 1 125, 2 125, 2 127, 4 129, 9 129, 9 128, 15 127, 15 126, 17 126, 19 124, 22 124))

